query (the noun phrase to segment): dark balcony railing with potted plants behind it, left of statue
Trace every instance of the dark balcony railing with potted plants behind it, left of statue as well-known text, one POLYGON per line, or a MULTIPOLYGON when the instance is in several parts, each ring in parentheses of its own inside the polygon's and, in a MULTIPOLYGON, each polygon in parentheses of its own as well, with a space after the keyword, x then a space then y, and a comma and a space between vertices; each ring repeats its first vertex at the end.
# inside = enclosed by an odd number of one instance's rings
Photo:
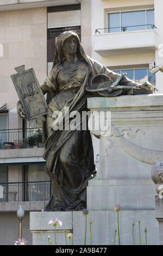
POLYGON ((42 128, 0 130, 0 149, 44 147, 42 128))

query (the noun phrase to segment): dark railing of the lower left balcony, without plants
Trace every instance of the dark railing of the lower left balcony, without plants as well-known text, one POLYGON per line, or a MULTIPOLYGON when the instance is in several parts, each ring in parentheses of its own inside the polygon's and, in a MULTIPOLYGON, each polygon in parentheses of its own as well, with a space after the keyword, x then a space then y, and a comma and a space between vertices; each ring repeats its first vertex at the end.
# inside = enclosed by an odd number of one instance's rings
POLYGON ((50 197, 51 181, 0 183, 0 203, 46 201, 50 197))

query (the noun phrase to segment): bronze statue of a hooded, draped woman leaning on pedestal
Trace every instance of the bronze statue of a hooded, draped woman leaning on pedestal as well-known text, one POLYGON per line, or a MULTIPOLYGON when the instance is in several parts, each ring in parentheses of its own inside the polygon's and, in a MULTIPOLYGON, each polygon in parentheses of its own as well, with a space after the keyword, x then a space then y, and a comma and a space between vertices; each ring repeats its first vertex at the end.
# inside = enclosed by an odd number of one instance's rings
MULTIPOLYGON (((43 94, 47 93, 48 103, 46 122, 43 123, 43 158, 46 160, 45 171, 52 180, 52 196, 44 211, 76 211, 86 208, 87 182, 96 175, 90 131, 55 130, 52 127, 55 119, 53 113, 60 111, 64 121, 66 107, 69 112, 87 111, 87 97, 93 94, 86 88, 90 88, 92 78, 100 74, 108 76, 112 82, 120 78, 120 75, 87 56, 76 33, 60 34, 53 68, 41 84, 43 94)), ((141 85, 126 77, 122 77, 119 84, 126 88, 120 94, 131 88, 144 90, 145 93, 152 92, 149 83, 141 85)), ((18 112, 20 109, 21 104, 18 105, 18 112)))

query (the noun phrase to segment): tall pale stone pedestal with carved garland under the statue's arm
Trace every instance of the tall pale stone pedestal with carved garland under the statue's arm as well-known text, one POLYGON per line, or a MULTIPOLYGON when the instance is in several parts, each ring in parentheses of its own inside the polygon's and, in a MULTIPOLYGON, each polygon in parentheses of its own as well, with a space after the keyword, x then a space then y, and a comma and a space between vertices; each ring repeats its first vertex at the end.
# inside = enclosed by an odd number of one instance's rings
POLYGON ((87 186, 87 208, 111 214, 115 205, 121 204, 123 242, 132 244, 126 232, 130 233, 129 225, 139 219, 143 230, 148 226, 148 244, 158 244, 151 168, 163 160, 163 95, 92 97, 88 108, 92 113, 110 112, 111 118, 108 132, 92 131, 100 139, 99 171, 87 186))

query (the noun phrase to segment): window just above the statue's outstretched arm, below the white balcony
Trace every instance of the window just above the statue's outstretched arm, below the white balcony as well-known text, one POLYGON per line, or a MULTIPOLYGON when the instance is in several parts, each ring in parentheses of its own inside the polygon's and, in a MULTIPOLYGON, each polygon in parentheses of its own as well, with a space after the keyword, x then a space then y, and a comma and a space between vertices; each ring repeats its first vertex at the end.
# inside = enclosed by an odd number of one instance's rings
POLYGON ((138 83, 144 83, 146 81, 149 81, 152 84, 155 84, 155 74, 152 75, 149 72, 149 69, 129 69, 129 70, 115 70, 114 71, 117 74, 123 74, 127 73, 127 77, 130 80, 133 80, 138 83))

